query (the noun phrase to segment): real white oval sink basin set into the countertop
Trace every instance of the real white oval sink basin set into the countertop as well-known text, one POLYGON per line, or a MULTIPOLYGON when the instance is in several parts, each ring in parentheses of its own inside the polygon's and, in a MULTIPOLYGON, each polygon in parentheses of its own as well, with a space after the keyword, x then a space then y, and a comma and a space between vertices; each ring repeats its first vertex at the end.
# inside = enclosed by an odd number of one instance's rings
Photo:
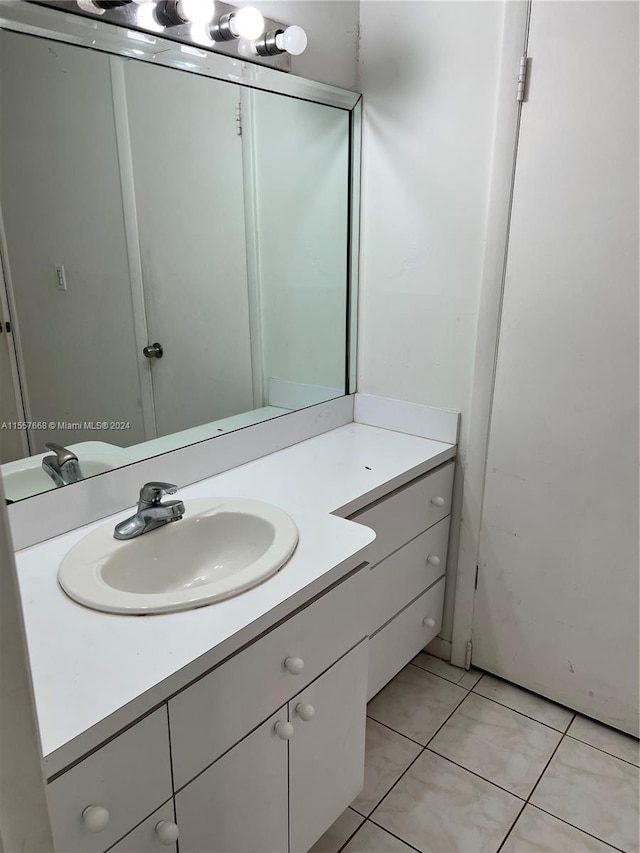
POLYGON ((245 498, 185 501, 185 515, 135 539, 105 524, 58 571, 64 591, 108 613, 167 613, 245 592, 275 574, 298 542, 282 510, 245 498))

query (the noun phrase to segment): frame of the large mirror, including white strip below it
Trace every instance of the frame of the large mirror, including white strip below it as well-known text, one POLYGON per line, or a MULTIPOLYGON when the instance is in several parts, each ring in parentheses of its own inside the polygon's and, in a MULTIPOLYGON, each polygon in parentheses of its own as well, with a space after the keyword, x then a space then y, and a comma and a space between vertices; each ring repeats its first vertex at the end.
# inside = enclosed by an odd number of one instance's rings
POLYGON ((139 488, 145 480, 158 479, 162 475, 160 478, 186 486, 353 420, 353 397, 349 395, 356 390, 362 96, 282 70, 217 54, 200 46, 180 44, 156 34, 147 36, 126 27, 25 0, 3 0, 0 3, 2 29, 150 62, 349 113, 345 396, 184 445, 177 450, 96 474, 64 489, 42 492, 12 503, 7 509, 15 548, 27 547, 126 509, 137 494, 132 488, 133 483, 137 483, 139 488), (218 449, 219 454, 216 452, 218 449), (150 468, 153 468, 153 473, 150 468))

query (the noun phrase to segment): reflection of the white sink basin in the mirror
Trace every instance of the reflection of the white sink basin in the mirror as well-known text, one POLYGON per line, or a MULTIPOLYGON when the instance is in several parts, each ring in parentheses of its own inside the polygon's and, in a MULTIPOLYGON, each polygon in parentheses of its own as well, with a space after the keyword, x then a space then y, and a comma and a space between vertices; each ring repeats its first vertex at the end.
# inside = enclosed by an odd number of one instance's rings
MULTIPOLYGON (((69 444, 67 447, 80 460, 80 468, 85 478, 135 462, 126 450, 104 441, 82 441, 79 444, 69 444)), ((46 453, 28 456, 3 465, 2 481, 5 496, 9 500, 19 501, 22 498, 55 489, 56 484, 42 468, 42 460, 50 455, 51 451, 47 450, 46 453)))

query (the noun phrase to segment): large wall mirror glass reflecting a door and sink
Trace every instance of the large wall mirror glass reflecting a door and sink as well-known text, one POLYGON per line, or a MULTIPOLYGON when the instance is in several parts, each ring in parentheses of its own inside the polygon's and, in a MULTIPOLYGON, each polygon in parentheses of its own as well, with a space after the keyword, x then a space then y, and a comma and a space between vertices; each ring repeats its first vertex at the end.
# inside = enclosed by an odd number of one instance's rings
POLYGON ((347 108, 0 30, 9 500, 348 393, 353 136, 347 108))

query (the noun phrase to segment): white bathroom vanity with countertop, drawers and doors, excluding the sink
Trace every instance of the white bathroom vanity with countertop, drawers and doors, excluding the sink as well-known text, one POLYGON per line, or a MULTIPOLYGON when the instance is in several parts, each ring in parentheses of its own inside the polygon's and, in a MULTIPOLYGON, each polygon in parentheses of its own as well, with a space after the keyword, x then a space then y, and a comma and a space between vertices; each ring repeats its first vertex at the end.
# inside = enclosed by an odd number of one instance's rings
POLYGON ((58 588, 122 514, 19 552, 57 849, 307 851, 362 787, 367 700, 440 628, 454 455, 352 423, 182 489, 270 501, 300 533, 275 576, 183 613, 58 588))

